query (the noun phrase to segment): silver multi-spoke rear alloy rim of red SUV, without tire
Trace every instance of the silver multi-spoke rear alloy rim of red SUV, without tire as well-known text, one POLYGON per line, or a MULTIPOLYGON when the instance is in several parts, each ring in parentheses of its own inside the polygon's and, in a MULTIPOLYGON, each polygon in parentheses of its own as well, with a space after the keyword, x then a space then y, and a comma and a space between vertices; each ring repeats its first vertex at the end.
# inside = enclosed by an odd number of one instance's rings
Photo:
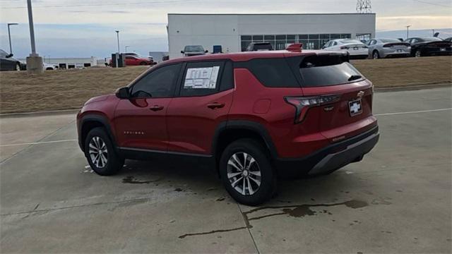
POLYGON ((261 187, 261 169, 246 152, 236 152, 227 161, 227 179, 242 195, 253 195, 261 187))

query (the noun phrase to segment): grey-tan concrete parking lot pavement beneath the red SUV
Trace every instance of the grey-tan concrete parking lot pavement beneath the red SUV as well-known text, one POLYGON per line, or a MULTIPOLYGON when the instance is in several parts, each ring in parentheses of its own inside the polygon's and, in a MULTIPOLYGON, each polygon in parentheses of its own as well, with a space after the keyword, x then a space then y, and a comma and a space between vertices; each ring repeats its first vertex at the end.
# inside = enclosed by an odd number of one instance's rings
POLYGON ((364 161, 280 181, 261 207, 196 165, 97 176, 73 114, 1 118, 1 253, 451 253, 451 92, 377 93, 364 161))

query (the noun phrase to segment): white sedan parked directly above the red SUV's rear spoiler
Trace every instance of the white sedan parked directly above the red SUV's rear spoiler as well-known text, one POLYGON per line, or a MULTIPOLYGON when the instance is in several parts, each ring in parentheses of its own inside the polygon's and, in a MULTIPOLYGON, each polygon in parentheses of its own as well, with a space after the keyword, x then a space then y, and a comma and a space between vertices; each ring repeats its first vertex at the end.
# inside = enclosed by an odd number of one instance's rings
POLYGON ((359 40, 338 39, 326 42, 322 49, 331 51, 343 51, 350 54, 350 59, 367 59, 369 48, 359 40))

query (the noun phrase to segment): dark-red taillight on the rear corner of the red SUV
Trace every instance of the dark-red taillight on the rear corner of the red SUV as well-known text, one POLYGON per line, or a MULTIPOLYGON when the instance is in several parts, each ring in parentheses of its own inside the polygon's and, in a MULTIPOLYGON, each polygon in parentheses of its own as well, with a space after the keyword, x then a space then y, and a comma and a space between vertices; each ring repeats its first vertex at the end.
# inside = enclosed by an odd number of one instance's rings
POLYGON ((304 120, 309 108, 338 102, 340 95, 322 95, 316 97, 284 97, 285 102, 295 107, 295 123, 304 120))

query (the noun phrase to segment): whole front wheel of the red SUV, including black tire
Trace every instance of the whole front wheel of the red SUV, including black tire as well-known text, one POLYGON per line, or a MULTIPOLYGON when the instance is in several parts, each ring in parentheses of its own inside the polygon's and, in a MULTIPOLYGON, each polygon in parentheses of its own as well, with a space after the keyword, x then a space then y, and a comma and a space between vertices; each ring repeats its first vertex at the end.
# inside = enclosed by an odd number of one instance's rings
POLYGON ((111 176, 116 174, 124 165, 124 159, 117 155, 114 150, 112 140, 110 140, 105 128, 93 128, 85 139, 85 157, 91 169, 101 176, 111 176), (101 148, 101 157, 97 149, 101 148))

